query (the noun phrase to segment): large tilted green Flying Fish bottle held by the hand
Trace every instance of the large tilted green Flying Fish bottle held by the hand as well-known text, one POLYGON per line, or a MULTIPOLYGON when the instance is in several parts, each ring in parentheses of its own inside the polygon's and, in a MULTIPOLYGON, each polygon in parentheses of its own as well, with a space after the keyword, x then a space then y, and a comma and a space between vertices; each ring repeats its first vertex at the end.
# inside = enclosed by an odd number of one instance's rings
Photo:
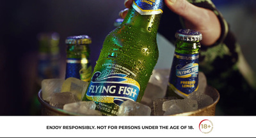
POLYGON ((83 100, 116 115, 125 100, 140 102, 158 59, 156 34, 163 0, 134 0, 122 24, 104 40, 83 100))

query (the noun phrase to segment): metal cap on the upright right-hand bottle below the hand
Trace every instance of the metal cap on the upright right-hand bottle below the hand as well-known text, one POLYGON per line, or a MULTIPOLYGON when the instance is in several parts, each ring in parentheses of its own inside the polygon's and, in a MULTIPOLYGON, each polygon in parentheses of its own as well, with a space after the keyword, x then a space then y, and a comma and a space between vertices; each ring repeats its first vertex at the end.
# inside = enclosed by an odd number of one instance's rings
POLYGON ((176 32, 175 38, 180 39, 182 41, 201 41, 202 34, 198 31, 194 31, 191 29, 180 29, 176 32))

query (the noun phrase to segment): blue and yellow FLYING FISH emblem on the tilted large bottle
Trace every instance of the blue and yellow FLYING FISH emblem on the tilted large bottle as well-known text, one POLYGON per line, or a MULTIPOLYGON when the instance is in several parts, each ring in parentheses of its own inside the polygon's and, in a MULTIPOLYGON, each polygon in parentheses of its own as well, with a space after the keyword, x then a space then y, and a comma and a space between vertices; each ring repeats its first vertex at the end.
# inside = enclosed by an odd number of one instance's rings
MULTIPOLYGON (((122 68, 120 67, 118 70, 122 68)), ((120 106, 125 100, 136 101, 139 92, 140 84, 129 78, 127 74, 115 71, 97 71, 92 76, 86 98, 95 102, 115 103, 120 106)))

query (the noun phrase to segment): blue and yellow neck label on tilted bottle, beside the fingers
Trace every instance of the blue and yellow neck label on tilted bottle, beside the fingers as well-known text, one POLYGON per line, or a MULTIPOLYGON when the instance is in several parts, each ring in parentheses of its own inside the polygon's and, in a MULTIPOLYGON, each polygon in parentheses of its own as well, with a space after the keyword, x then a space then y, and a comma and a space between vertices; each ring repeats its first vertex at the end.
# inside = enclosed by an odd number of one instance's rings
POLYGON ((163 0, 134 0, 132 8, 141 15, 157 15, 163 13, 163 0))

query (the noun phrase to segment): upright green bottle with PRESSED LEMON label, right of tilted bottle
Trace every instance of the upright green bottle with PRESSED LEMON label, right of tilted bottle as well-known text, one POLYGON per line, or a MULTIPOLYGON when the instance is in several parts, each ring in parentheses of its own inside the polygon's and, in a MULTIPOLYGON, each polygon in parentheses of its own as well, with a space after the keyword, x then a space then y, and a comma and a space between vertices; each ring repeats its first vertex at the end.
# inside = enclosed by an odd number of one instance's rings
POLYGON ((175 53, 166 97, 183 99, 198 89, 198 59, 202 34, 191 29, 175 33, 175 53))

